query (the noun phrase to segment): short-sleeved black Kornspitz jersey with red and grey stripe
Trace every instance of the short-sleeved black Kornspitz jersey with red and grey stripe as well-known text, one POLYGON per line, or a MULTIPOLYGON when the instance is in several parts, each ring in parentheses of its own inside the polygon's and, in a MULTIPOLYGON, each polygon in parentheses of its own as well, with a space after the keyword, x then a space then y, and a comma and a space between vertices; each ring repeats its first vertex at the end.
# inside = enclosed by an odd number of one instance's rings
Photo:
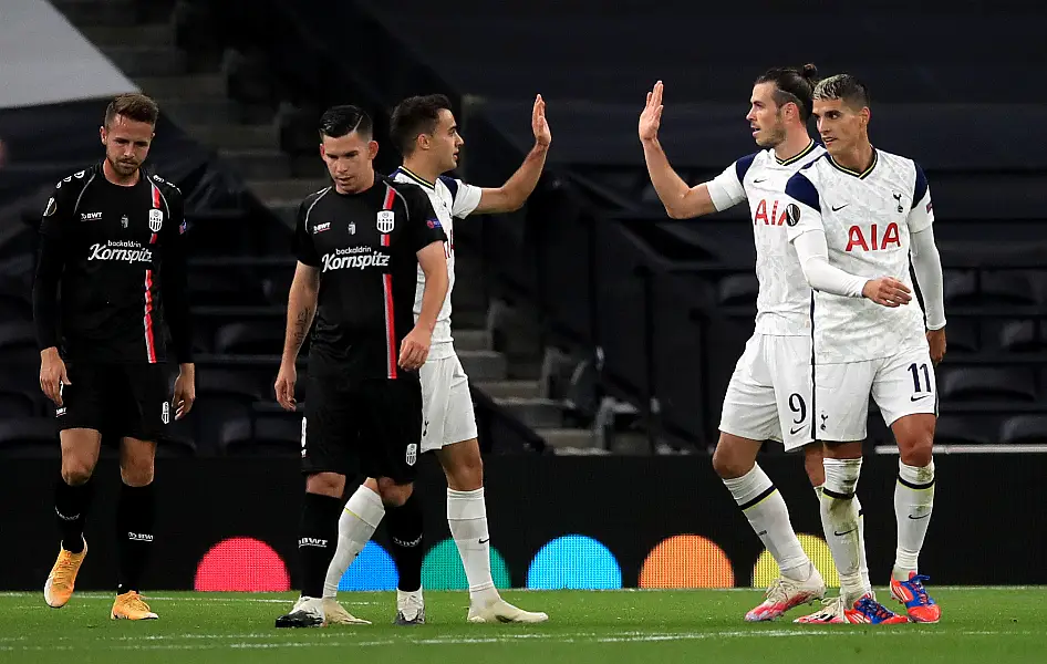
POLYGON ((332 186, 308 196, 299 208, 294 253, 320 270, 310 374, 417 378, 396 364, 414 328, 417 252, 445 241, 428 197, 415 185, 375 174, 374 185, 359 194, 332 186))

